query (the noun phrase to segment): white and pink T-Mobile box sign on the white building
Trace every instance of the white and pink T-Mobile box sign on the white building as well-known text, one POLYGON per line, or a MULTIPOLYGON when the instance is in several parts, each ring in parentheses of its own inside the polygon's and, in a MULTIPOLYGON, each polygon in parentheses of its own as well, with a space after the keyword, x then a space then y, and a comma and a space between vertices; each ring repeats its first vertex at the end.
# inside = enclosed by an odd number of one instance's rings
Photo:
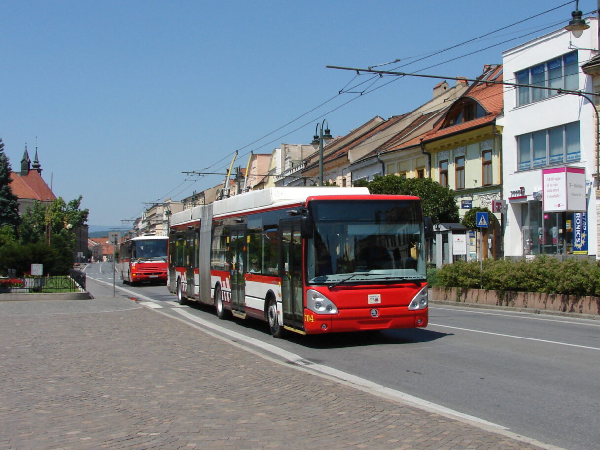
POLYGON ((557 167, 542 170, 544 212, 586 211, 586 169, 557 167))

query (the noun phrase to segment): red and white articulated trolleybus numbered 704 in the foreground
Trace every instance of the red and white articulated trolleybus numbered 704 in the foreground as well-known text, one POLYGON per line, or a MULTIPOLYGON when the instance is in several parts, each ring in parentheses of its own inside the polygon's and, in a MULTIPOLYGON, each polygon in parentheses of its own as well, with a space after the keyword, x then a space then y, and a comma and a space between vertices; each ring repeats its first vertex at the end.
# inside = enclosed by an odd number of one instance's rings
POLYGON ((173 214, 169 289, 221 319, 265 320, 275 337, 424 327, 425 228, 418 197, 251 191, 173 214))

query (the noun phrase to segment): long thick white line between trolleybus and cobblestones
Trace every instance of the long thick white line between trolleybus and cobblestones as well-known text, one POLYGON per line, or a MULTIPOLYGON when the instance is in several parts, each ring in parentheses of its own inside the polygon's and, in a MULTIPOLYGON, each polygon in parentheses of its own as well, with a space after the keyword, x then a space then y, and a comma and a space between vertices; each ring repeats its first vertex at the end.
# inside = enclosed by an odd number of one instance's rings
POLYGON ((466 419, 470 422, 475 422, 480 425, 485 425, 487 427, 494 427, 500 430, 508 430, 508 428, 503 427, 502 425, 494 424, 492 422, 484 421, 483 419, 476 418, 474 416, 469 416, 467 414, 461 413, 457 410, 446 408, 445 406, 439 405, 437 403, 432 403, 431 401, 424 400, 422 398, 414 397, 413 395, 406 394, 405 392, 397 391, 395 389, 386 388, 385 386, 378 385, 377 383, 370 382, 369 380, 365 380, 364 378, 354 376, 350 373, 337 370, 332 367, 328 367, 323 364, 315 364, 311 361, 307 361, 295 353, 288 352, 287 350, 280 349, 272 344, 267 344, 263 341, 259 341, 257 339, 248 337, 244 334, 238 333, 237 331, 232 331, 226 328, 223 328, 219 325, 214 325, 214 323, 210 323, 206 320, 201 319, 200 317, 194 316, 187 310, 177 309, 174 310, 177 313, 181 314, 188 320, 192 320, 193 322, 202 325, 203 327, 212 329, 214 331, 219 332, 220 334, 229 335, 236 340, 243 341, 245 343, 251 344, 253 346, 259 347, 266 352, 272 353, 274 355, 280 356, 283 359, 286 359, 293 364, 296 364, 305 369, 311 369, 322 374, 326 374, 328 376, 334 377, 338 380, 343 380, 344 382, 351 383, 356 386, 361 386, 362 388, 367 388, 370 391, 374 391, 379 393, 385 398, 395 398, 397 400, 402 400, 405 403, 413 404, 414 406, 418 406, 421 409, 426 409, 431 412, 436 413, 444 413, 445 415, 451 415, 453 417, 458 417, 461 419, 466 419))

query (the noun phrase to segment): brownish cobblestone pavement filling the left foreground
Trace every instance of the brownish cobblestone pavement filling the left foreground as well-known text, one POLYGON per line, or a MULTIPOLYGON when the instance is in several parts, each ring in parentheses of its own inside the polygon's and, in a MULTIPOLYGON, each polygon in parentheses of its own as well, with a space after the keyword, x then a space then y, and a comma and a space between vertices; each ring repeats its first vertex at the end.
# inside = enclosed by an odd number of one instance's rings
POLYGON ((125 298, 10 303, 0 449, 541 448, 263 359, 125 298))

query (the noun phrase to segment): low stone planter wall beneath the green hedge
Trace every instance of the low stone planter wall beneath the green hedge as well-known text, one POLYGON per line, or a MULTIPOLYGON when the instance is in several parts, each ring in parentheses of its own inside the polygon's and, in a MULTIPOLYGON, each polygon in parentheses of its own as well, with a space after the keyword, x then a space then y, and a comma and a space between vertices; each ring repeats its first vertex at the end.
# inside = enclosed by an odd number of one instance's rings
POLYGON ((433 287, 432 301, 508 306, 532 310, 600 315, 600 297, 539 292, 500 292, 461 287, 433 287))

